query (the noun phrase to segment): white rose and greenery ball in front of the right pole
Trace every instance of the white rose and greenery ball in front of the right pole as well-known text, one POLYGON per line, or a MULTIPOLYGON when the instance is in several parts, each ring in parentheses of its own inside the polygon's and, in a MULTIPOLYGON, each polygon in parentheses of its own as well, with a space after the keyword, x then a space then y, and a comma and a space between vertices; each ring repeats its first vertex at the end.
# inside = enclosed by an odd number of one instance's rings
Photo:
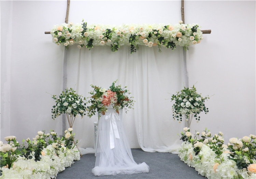
POLYGON ((209 99, 209 96, 203 98, 201 94, 197 93, 194 85, 190 89, 184 87, 176 95, 172 95, 171 102, 174 101, 172 105, 173 119, 181 122, 182 116, 184 116, 189 127, 193 117, 199 121, 200 116, 198 115, 201 111, 204 111, 205 114, 209 112, 208 108, 204 105, 207 99, 209 99))

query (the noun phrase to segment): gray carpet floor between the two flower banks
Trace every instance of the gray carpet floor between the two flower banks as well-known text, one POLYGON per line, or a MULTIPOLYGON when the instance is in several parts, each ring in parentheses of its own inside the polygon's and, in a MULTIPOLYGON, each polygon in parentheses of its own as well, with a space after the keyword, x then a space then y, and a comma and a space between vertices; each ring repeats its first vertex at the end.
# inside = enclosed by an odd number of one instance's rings
POLYGON ((60 172, 57 179, 205 179, 194 168, 182 162, 176 154, 144 152, 142 149, 131 151, 136 163, 145 162, 150 167, 149 173, 94 176, 91 169, 94 168, 96 157, 94 154, 85 154, 71 167, 60 172))

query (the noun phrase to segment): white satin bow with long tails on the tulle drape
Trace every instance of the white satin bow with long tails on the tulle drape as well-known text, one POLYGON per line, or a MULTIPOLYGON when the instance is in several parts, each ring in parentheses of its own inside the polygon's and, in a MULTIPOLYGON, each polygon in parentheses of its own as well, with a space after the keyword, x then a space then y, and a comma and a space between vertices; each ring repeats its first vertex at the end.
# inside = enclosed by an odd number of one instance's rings
POLYGON ((112 112, 106 115, 105 120, 109 120, 110 123, 110 131, 109 131, 109 138, 110 138, 110 149, 115 148, 115 142, 114 142, 114 134, 115 138, 120 138, 116 120, 120 120, 119 117, 116 115, 116 113, 112 112))

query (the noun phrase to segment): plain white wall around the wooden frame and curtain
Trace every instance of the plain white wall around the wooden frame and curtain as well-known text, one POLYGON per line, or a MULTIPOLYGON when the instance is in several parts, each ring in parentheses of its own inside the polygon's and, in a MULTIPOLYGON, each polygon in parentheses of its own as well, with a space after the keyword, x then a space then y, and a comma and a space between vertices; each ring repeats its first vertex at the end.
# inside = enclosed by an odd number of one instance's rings
MULTIPOLYGON (((67 2, 0 3, 1 140, 15 135, 21 141, 40 130, 61 134, 61 119, 51 119, 54 102, 46 92, 62 90, 63 48, 44 31, 65 21, 67 2)), ((88 24, 175 24, 180 1, 71 0, 69 21, 83 18, 88 24)), ((190 86, 213 95, 206 102, 209 114, 192 130, 222 131, 226 142, 255 134, 255 1, 185 1, 185 23, 212 30, 188 51, 190 86)))

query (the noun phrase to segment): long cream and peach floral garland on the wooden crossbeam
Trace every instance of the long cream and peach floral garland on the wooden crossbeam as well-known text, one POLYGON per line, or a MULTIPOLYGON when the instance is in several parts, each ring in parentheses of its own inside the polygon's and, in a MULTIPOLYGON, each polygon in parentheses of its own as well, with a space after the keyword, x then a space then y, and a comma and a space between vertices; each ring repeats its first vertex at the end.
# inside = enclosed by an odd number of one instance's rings
POLYGON ((57 45, 77 44, 78 48, 85 46, 89 50, 94 46, 110 46, 111 51, 117 51, 120 46, 130 45, 130 53, 139 49, 139 45, 147 47, 161 46, 175 49, 182 46, 188 49, 189 45, 195 45, 203 39, 200 27, 197 24, 183 24, 179 21, 177 25, 152 24, 152 25, 87 25, 84 20, 82 24, 64 23, 55 25, 50 33, 52 40, 57 45))

